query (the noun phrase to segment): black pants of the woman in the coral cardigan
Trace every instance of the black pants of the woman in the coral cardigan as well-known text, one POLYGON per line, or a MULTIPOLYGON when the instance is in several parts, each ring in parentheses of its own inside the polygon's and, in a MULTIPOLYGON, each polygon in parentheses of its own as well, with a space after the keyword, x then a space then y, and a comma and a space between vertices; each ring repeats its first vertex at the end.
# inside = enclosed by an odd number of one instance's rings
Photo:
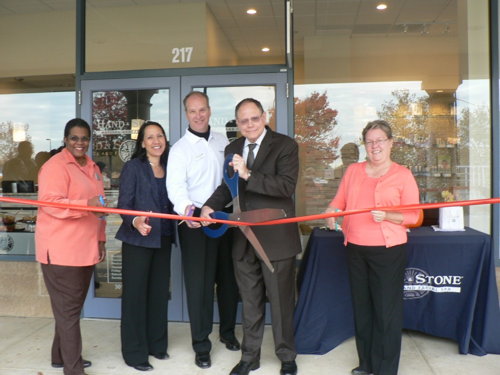
POLYGON ((392 247, 347 243, 359 367, 396 375, 401 351, 406 244, 392 247))

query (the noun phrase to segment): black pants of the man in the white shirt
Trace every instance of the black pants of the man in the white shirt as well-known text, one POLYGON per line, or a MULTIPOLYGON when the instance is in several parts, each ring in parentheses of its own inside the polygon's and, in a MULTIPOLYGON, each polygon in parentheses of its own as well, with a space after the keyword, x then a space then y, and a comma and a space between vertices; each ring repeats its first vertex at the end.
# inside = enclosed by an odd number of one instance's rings
MULTIPOLYGON (((199 208, 196 208, 194 216, 198 215, 199 208)), ((211 350, 208 335, 212 331, 215 283, 219 334, 225 339, 234 338, 239 294, 231 258, 233 229, 228 228, 218 238, 210 238, 201 228, 189 228, 185 223, 178 226, 191 341, 195 352, 211 350)))

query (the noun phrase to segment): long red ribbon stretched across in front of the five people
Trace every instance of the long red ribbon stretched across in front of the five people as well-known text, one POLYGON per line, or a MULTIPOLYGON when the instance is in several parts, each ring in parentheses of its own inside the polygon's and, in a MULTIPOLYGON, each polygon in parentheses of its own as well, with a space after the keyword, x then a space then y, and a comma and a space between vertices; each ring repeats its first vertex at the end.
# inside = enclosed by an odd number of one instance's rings
POLYGON ((439 208, 439 207, 494 204, 494 203, 500 203, 500 198, 454 200, 451 202, 405 204, 405 205, 385 206, 385 207, 376 207, 376 208, 351 209, 348 211, 319 213, 316 215, 289 217, 289 218, 284 218, 284 219, 269 220, 269 221, 254 222, 254 223, 241 222, 241 221, 231 221, 231 220, 220 220, 220 219, 212 219, 212 218, 201 218, 201 217, 193 217, 193 216, 181 216, 181 215, 169 214, 169 213, 134 211, 134 210, 130 210, 130 209, 120 209, 120 208, 110 208, 110 207, 94 207, 94 206, 86 206, 86 205, 79 205, 79 204, 64 204, 64 203, 55 203, 55 202, 45 202, 42 200, 11 198, 11 197, 6 197, 6 196, 0 196, 0 201, 9 202, 9 203, 37 205, 37 206, 41 206, 41 207, 56 207, 56 208, 62 208, 62 209, 76 209, 76 210, 82 210, 82 211, 118 213, 118 214, 122 214, 122 215, 132 215, 132 216, 160 217, 160 218, 168 218, 168 219, 174 219, 174 220, 212 221, 212 222, 220 222, 220 223, 225 223, 225 224, 230 224, 230 225, 269 225, 269 224, 284 224, 287 222, 318 220, 318 219, 324 219, 326 217, 347 216, 347 215, 353 215, 356 213, 370 212, 374 209, 379 210, 379 211, 407 211, 407 210, 413 210, 413 209, 427 209, 427 208, 439 208))

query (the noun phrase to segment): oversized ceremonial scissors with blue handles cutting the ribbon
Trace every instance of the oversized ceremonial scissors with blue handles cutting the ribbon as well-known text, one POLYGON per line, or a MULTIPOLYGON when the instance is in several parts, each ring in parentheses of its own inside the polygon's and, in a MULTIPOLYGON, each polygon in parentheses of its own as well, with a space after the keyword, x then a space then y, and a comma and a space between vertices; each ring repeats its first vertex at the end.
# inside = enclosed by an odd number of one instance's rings
MULTIPOLYGON (((229 191, 231 192, 232 196, 232 213, 215 211, 210 213, 210 217, 221 220, 241 221, 250 223, 275 220, 278 218, 286 217, 286 212, 278 208, 261 208, 261 209, 253 209, 250 211, 243 211, 243 212, 241 211, 238 199, 238 172, 235 171, 232 177, 229 177, 229 174, 227 173, 227 167, 229 166, 229 162, 232 160, 232 156, 233 156, 232 153, 226 156, 222 171, 224 182, 229 188, 229 191)), ((228 226, 229 226, 228 224, 222 224, 217 229, 211 229, 208 226, 203 226, 203 231, 207 236, 214 238, 222 235, 222 233, 224 233, 227 230, 228 226)), ((255 233, 253 233, 253 230, 248 225, 238 225, 238 227, 243 232, 246 239, 248 239, 248 241, 252 244, 253 248, 255 248, 257 254, 263 260, 265 265, 267 265, 267 268, 269 268, 271 272, 274 272, 274 268, 272 267, 269 258, 267 257, 264 249, 262 248, 262 245, 255 236, 255 233)))

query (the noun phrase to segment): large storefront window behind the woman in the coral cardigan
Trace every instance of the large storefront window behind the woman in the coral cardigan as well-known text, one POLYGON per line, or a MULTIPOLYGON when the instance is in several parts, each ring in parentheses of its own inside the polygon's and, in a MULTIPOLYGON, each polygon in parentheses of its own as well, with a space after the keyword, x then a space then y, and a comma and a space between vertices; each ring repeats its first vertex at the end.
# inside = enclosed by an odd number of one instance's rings
MULTIPOLYGON (((324 210, 346 166, 366 159, 361 130, 377 118, 392 125, 392 159, 413 172, 421 203, 443 201, 445 191, 490 197, 488 2, 417 4, 394 1, 386 12, 346 4, 336 23, 318 16, 314 34, 295 35, 303 50, 295 55, 297 214, 324 210)), ((437 223, 436 212, 425 213, 437 223)), ((489 232, 488 205, 464 213, 465 225, 489 232)))

